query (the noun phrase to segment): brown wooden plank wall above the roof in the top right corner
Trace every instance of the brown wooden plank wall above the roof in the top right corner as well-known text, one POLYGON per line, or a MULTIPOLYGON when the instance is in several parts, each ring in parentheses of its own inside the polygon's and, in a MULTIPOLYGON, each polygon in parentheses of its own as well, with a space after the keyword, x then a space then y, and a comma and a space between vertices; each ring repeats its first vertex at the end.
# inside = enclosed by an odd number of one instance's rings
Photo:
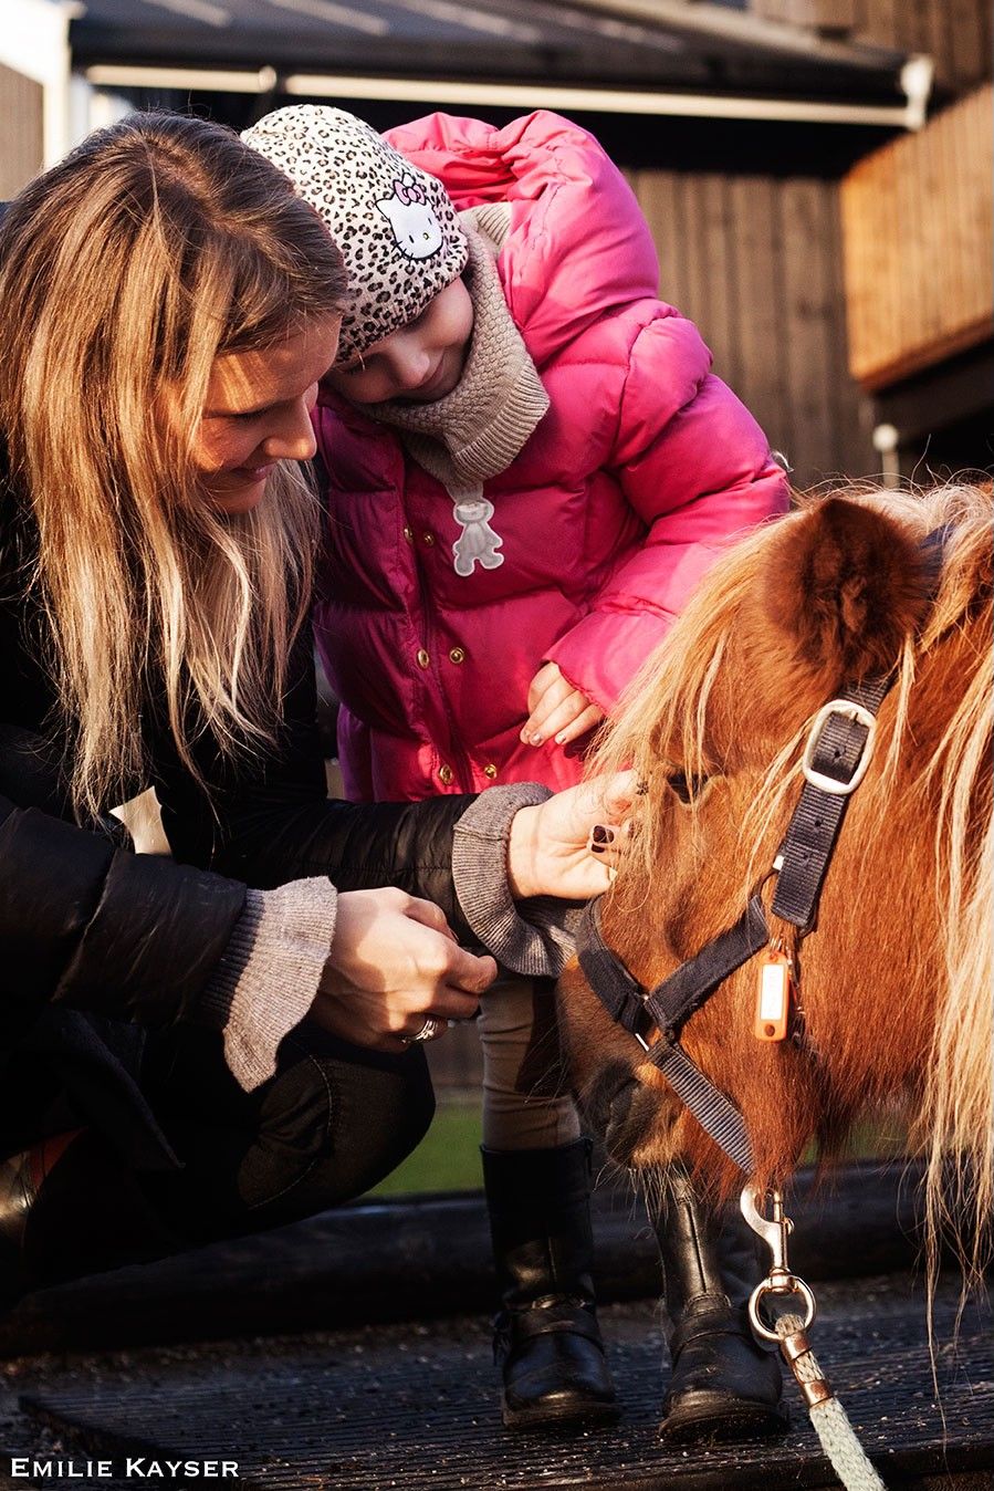
POLYGON ((750 0, 750 9, 852 42, 927 52, 936 81, 957 91, 994 72, 991 0, 750 0))

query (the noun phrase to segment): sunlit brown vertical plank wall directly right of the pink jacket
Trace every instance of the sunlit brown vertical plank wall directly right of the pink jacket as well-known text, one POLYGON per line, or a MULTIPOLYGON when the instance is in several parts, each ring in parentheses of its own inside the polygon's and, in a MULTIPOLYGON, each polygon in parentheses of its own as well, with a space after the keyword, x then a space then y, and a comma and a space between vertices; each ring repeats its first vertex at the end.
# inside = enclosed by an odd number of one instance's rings
POLYGON ((629 174, 660 256, 660 295, 700 328, 715 373, 794 468, 796 486, 876 468, 870 406, 848 373, 838 183, 629 174))

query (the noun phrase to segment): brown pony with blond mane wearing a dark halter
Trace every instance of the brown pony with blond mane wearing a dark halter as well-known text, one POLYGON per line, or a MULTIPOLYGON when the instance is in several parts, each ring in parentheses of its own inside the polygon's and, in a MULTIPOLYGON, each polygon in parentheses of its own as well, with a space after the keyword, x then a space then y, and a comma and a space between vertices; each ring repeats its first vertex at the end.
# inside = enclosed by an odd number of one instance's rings
MULTIPOLYGON (((598 753, 595 769, 633 765, 644 793, 602 932, 651 987, 729 927, 772 866, 812 717, 890 669, 876 750, 800 945, 769 915, 772 878, 763 887, 770 930, 794 951, 803 1035, 754 1036, 753 959, 683 1045, 744 1114, 763 1184, 809 1139, 838 1153, 860 1114, 905 1099, 933 1233, 951 1167, 978 1267, 994 1200, 990 489, 809 499, 715 565, 598 753), (930 596, 919 543, 943 526, 930 596)), ((575 965, 559 997, 575 1085, 614 1159, 651 1176, 683 1156, 724 1194, 739 1185, 575 965)))

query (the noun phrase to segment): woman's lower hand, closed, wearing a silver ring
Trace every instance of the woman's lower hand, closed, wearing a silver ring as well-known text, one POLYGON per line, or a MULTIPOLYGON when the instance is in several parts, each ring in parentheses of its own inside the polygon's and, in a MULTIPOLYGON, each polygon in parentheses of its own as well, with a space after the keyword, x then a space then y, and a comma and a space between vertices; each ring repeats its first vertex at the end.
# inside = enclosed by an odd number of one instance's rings
POLYGON ((492 957, 459 947, 431 901, 402 890, 338 896, 331 953, 310 1015, 332 1035, 402 1051, 429 1015, 471 1020, 496 978, 492 957))

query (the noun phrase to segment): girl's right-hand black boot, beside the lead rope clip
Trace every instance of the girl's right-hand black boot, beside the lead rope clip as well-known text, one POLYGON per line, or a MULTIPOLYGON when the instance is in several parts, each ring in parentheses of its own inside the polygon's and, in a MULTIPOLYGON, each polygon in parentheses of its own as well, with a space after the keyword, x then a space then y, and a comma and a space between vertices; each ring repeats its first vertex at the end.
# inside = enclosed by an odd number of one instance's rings
POLYGON ((674 1324, 662 1437, 687 1445, 782 1433, 779 1357, 756 1342, 747 1314, 762 1278, 754 1233, 738 1209, 709 1214, 674 1167, 656 1235, 674 1324))

